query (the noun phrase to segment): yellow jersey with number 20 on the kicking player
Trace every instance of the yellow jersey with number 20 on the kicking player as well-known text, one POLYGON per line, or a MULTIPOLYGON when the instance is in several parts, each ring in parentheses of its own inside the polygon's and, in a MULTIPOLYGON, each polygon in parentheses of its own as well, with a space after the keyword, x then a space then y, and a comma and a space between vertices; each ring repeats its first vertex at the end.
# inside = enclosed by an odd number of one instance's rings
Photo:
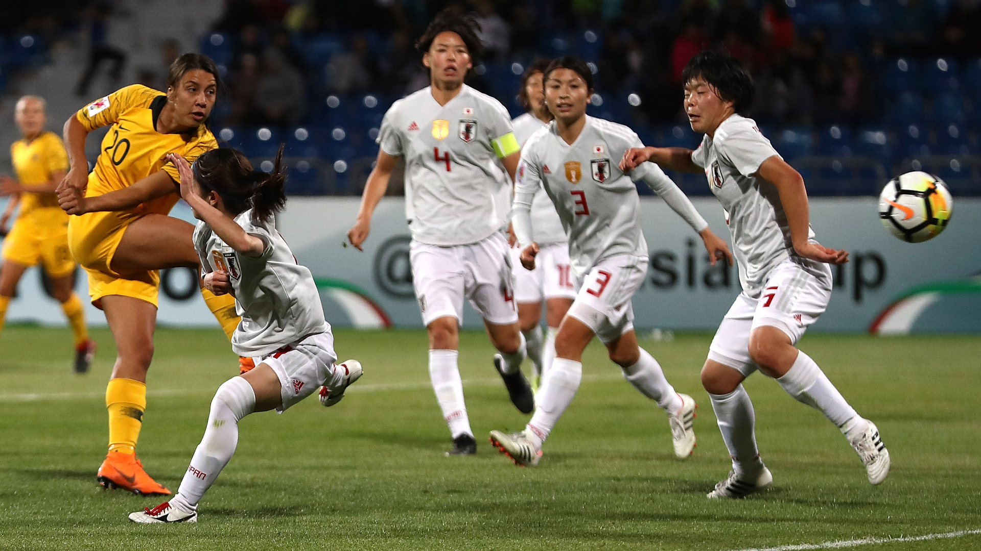
MULTIPOLYGON (((169 153, 193 163, 202 153, 218 147, 214 134, 205 125, 182 134, 157 131, 157 119, 167 105, 167 95, 142 84, 132 84, 78 110, 76 118, 91 131, 112 125, 102 139, 99 159, 89 177, 85 196, 102 195, 129 187, 136 181, 164 170, 181 181, 177 167, 168 162, 169 153)), ((134 214, 166 215, 181 198, 177 184, 174 193, 143 203, 134 214)))

